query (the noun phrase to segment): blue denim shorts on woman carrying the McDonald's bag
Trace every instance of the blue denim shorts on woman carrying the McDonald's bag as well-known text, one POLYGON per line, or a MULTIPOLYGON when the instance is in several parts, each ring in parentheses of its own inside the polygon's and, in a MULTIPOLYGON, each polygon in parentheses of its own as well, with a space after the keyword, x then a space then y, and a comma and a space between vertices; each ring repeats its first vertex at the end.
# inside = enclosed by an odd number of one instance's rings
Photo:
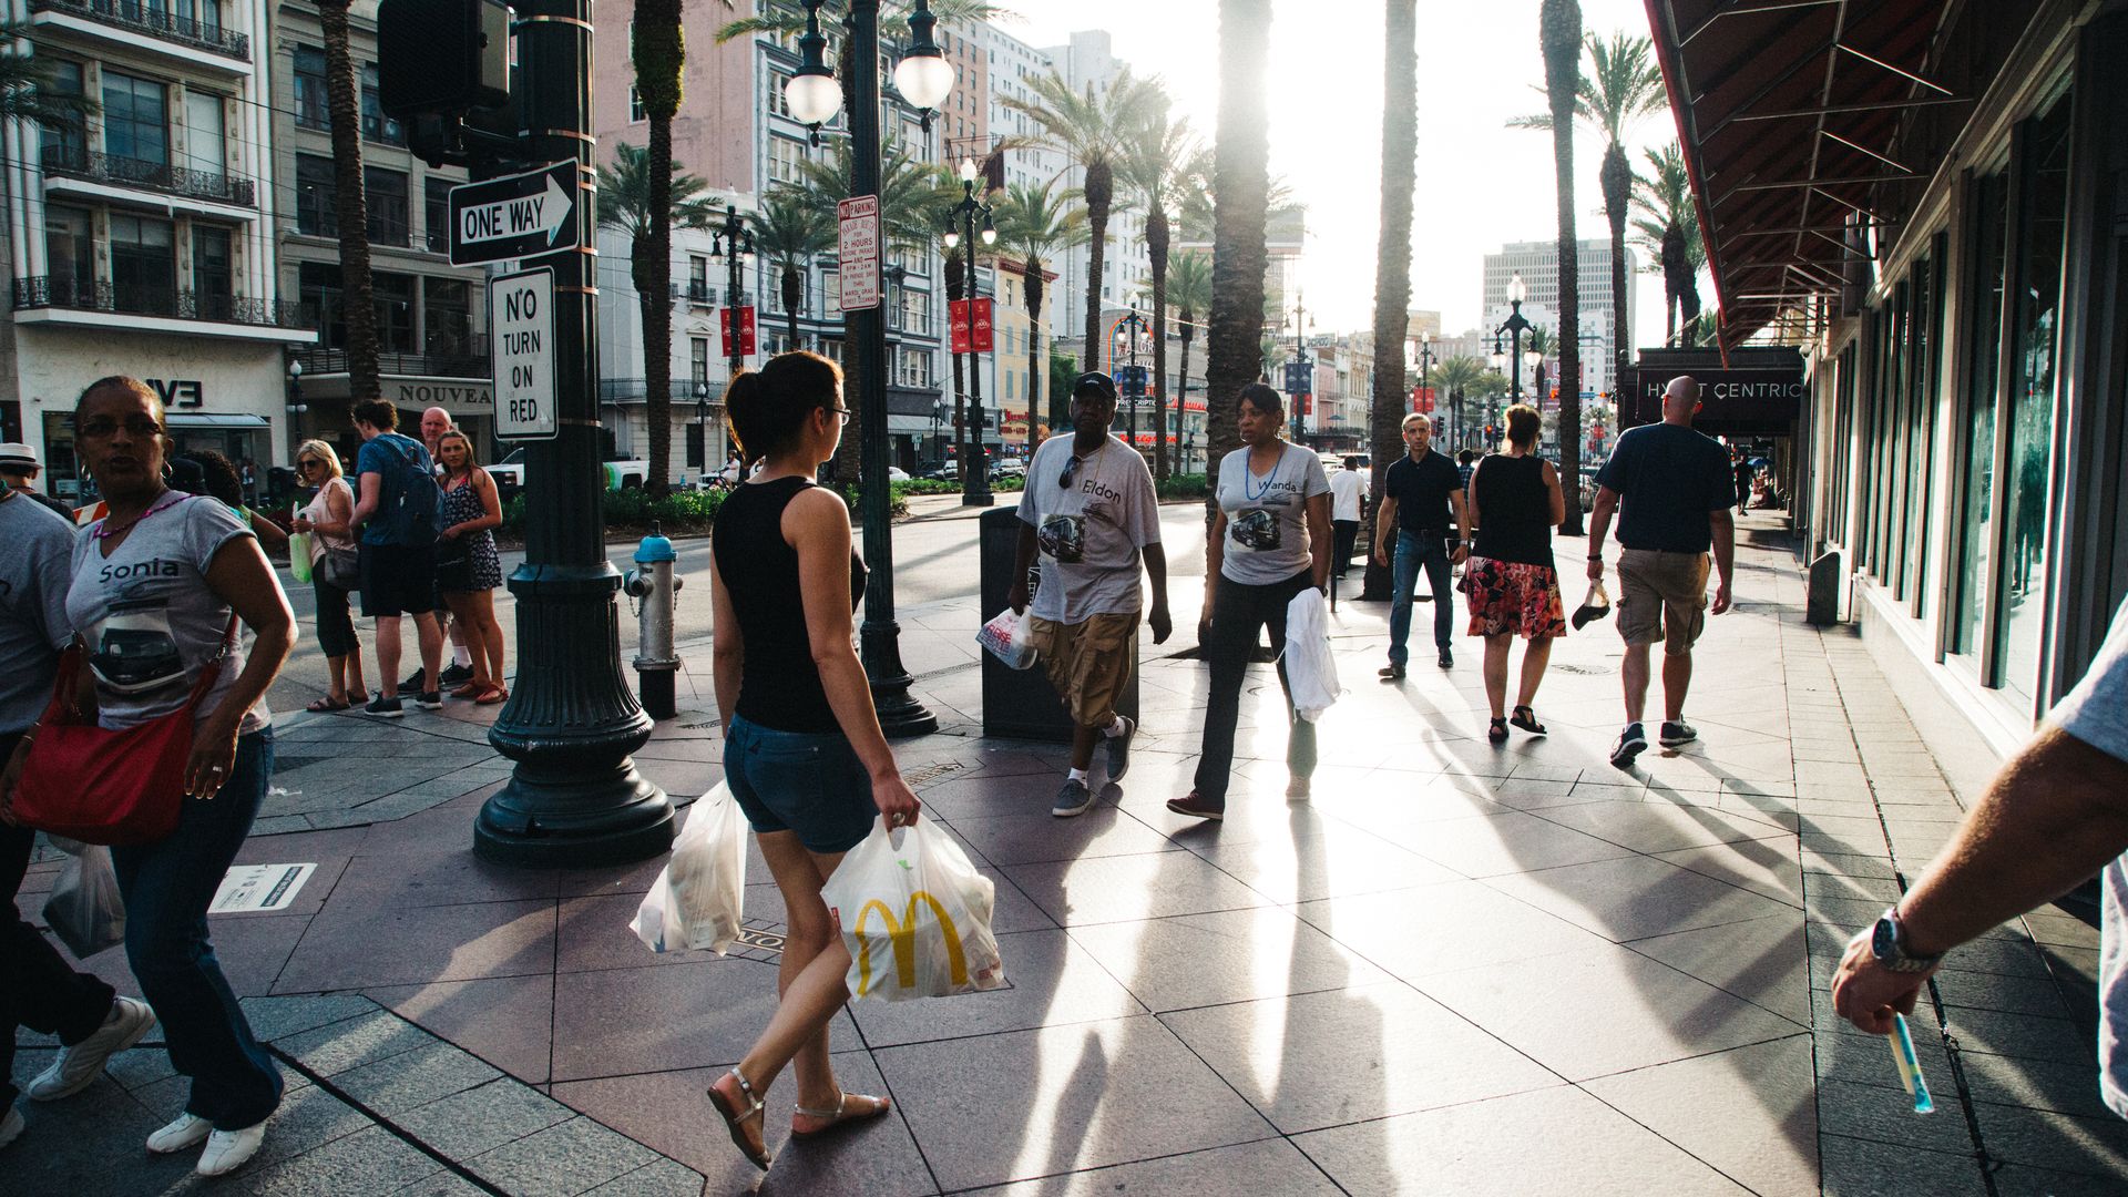
POLYGON ((758 835, 796 831, 811 852, 849 852, 872 833, 872 775, 843 733, 775 731, 732 716, 724 784, 758 835))

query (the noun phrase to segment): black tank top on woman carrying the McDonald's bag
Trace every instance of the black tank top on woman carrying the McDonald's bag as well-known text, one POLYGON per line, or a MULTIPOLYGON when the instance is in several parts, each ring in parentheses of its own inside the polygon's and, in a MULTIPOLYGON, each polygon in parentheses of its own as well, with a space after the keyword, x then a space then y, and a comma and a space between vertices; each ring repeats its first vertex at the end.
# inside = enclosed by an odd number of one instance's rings
MULTIPOLYGON (((807 477, 749 481, 717 507, 711 552, 717 579, 738 613, 745 667, 738 709, 747 722, 775 731, 841 731, 813 665, 813 637, 798 590, 798 550, 783 539, 783 509, 813 486, 807 477)), ((864 594, 864 560, 849 554, 849 607, 864 594)))

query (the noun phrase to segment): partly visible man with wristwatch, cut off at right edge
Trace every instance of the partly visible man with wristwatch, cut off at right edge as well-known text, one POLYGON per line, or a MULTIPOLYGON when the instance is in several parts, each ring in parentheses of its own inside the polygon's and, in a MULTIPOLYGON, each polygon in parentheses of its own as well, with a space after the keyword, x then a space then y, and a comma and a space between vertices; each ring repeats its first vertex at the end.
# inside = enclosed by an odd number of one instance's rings
POLYGON ((1873 1033, 1951 948, 2100 873, 2098 1093, 2128 1118, 2128 603, 2083 682, 1988 784, 1949 848, 1847 946, 1832 1005, 1873 1033))

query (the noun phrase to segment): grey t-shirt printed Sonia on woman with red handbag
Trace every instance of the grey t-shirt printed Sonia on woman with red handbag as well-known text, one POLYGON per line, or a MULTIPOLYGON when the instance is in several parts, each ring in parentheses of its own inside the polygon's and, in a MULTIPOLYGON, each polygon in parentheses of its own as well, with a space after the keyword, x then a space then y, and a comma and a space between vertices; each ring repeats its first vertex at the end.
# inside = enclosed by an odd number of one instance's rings
MULTIPOLYGON (((145 724, 192 696, 192 684, 230 626, 230 605, 206 588, 206 567, 221 545, 251 535, 219 498, 172 490, 157 503, 162 507, 134 524, 111 556, 96 539, 102 520, 74 543, 66 616, 87 645, 98 722, 106 728, 145 724)), ((240 624, 230 641, 221 677, 200 703, 198 718, 215 709, 245 669, 240 624)), ((238 731, 253 733, 270 722, 272 711, 260 699, 245 711, 238 731)))

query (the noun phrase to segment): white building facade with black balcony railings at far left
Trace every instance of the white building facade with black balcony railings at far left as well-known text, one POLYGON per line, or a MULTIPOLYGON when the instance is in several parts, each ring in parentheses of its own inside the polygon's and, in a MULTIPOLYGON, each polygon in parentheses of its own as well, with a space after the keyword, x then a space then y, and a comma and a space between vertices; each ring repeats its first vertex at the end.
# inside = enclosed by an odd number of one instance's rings
POLYGON ((162 392, 181 447, 287 462, 287 349, 315 334, 275 270, 268 0, 9 0, 53 87, 94 109, 6 121, 11 319, 0 439, 81 501, 72 407, 104 375, 162 392))

